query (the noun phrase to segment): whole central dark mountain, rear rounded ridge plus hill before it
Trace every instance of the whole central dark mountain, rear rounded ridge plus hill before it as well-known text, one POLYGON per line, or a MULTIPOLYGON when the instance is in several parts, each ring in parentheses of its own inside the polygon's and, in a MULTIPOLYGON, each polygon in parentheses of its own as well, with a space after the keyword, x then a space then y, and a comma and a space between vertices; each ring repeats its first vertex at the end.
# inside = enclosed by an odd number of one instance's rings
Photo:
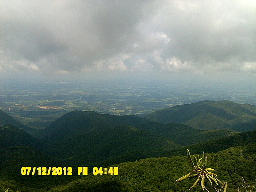
POLYGON ((137 116, 72 111, 35 135, 47 142, 52 155, 77 164, 97 163, 133 150, 156 151, 178 147, 162 136, 131 126, 147 121, 137 116))

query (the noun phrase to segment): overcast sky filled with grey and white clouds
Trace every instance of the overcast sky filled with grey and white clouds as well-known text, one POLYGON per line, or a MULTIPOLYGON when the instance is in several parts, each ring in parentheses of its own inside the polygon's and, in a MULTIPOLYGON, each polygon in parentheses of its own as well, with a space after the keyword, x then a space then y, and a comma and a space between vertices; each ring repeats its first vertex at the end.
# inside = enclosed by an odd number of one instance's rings
POLYGON ((256 1, 1 0, 0 75, 256 74, 256 1))

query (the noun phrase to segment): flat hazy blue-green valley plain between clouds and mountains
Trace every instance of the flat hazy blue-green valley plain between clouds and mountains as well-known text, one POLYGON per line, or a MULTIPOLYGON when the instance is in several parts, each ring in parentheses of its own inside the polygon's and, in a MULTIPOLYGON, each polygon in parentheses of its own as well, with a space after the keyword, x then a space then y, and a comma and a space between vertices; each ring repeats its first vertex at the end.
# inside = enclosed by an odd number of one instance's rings
MULTIPOLYGON (((73 110, 145 116, 159 109, 203 100, 255 105, 249 85, 209 86, 175 81, 1 81, 0 109, 21 123, 41 129, 73 110)), ((203 117, 202 117, 203 118, 203 117)))

